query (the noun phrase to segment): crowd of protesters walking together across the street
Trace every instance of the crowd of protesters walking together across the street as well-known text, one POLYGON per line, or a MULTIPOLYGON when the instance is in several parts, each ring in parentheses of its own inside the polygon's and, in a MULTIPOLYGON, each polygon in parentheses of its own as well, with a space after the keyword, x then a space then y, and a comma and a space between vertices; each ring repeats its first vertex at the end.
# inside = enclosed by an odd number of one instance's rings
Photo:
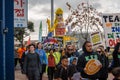
POLYGON ((59 46, 43 47, 44 44, 30 44, 15 50, 15 66, 19 60, 21 72, 28 80, 42 80, 47 73, 48 80, 107 80, 108 73, 114 75, 113 80, 120 80, 120 43, 118 42, 112 53, 110 63, 108 51, 100 45, 93 49, 90 41, 83 44, 80 54, 75 45, 68 44, 65 48, 59 46), (17 53, 17 54, 16 54, 17 53), (93 74, 86 73, 86 64, 89 60, 98 60, 100 70, 93 74))

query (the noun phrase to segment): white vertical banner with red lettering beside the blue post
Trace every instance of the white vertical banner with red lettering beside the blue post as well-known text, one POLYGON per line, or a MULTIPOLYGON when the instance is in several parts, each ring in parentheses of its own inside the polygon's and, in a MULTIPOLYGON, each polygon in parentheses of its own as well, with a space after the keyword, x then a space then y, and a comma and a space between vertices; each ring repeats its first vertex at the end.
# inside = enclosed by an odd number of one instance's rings
POLYGON ((14 0, 14 27, 27 27, 27 14, 27 0, 14 0))

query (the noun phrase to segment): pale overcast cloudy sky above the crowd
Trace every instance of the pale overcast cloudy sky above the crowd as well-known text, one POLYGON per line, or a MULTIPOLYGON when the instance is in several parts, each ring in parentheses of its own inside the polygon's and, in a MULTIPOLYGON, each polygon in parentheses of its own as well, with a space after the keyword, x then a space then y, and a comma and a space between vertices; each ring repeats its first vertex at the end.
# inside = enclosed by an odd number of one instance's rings
MULTIPOLYGON (((62 8, 64 18, 66 18, 70 14, 66 2, 69 2, 75 8, 79 3, 87 1, 99 12, 120 13, 120 0, 54 0, 54 11, 59 7, 62 8)), ((32 21, 35 27, 35 32, 31 33, 32 40, 38 40, 40 21, 43 22, 43 35, 47 34, 46 19, 50 19, 50 15, 51 0, 28 0, 28 20, 32 21)))

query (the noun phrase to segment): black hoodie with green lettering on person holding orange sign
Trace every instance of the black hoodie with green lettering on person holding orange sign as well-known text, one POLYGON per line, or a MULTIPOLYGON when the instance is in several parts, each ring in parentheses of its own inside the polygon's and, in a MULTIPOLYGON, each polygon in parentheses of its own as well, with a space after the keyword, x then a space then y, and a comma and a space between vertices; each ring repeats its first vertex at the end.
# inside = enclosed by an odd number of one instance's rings
POLYGON ((98 55, 97 53, 95 52, 91 52, 91 53, 83 53, 82 55, 79 56, 78 58, 78 62, 77 62, 77 69, 79 72, 81 72, 81 76, 83 78, 89 78, 89 79, 98 79, 100 78, 100 71, 97 72, 96 74, 94 75, 87 75, 85 72, 84 72, 84 68, 87 64, 87 62, 90 60, 90 59, 97 59, 101 62, 101 57, 100 55, 98 55))

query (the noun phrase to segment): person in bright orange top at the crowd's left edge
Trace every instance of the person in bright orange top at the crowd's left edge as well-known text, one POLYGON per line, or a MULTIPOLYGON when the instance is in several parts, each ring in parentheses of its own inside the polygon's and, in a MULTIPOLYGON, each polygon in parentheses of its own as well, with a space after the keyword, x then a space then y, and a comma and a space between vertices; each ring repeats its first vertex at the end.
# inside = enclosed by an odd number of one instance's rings
POLYGON ((21 72, 23 73, 23 63, 22 63, 22 54, 26 51, 26 48, 24 47, 24 45, 22 45, 20 48, 18 48, 17 52, 18 52, 18 58, 19 58, 19 63, 20 63, 20 67, 21 67, 21 72))

